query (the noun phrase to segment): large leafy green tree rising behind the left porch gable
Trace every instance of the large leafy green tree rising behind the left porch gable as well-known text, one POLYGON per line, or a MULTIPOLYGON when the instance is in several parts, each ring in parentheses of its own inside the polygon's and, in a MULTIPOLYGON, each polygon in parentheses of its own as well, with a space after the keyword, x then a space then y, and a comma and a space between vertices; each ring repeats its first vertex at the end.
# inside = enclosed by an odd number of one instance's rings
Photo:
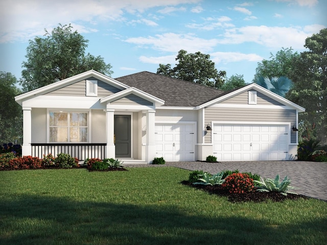
POLYGON ((45 38, 35 37, 29 41, 26 51, 27 61, 22 62, 20 85, 24 91, 30 91, 72 76, 94 69, 110 76, 112 67, 100 56, 85 56, 88 40, 71 24, 59 26, 51 33, 44 29, 45 38))

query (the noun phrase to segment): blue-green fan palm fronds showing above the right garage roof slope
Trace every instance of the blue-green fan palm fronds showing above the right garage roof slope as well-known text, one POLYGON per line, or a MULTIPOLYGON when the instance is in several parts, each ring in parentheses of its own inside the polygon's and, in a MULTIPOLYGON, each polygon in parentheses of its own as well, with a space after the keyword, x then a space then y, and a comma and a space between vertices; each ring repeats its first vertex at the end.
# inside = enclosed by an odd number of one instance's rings
POLYGON ((259 76, 255 77, 254 82, 282 97, 285 97, 285 94, 293 85, 292 81, 287 77, 264 78, 263 76, 259 76))

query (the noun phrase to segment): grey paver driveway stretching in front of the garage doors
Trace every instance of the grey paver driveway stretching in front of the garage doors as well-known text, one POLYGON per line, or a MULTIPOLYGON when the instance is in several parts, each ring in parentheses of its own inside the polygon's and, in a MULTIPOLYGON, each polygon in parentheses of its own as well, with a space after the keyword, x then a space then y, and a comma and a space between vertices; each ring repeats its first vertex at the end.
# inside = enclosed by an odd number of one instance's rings
MULTIPOLYGON (((125 165, 125 164, 124 164, 125 165)), ((126 165, 129 167, 136 165, 126 165)), ((142 165, 137 165, 142 166, 142 165)), ((254 162, 166 162, 165 165, 144 164, 143 166, 174 166, 188 170, 203 170, 217 174, 221 170, 235 170, 259 174, 263 178, 274 179, 278 174, 291 180, 295 192, 308 197, 327 201, 327 163, 305 161, 254 161, 254 162)))

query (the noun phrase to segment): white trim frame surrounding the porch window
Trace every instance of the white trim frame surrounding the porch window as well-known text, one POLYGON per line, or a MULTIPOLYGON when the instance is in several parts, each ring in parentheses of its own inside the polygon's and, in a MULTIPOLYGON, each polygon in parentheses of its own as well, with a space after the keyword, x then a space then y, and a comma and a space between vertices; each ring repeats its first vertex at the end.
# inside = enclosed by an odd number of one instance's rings
POLYGON ((73 110, 67 110, 67 109, 46 109, 46 143, 69 143, 69 144, 75 144, 75 143, 92 143, 91 141, 91 110, 85 110, 85 109, 73 109, 73 110), (87 142, 50 142, 50 112, 79 112, 79 113, 87 113, 87 142))

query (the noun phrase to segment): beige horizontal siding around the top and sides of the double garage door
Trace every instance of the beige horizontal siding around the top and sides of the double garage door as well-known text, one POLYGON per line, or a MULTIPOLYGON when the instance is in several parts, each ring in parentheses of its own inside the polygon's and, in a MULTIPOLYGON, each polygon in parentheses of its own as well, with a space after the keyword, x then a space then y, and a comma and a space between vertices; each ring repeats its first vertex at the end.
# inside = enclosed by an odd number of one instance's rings
MULTIPOLYGON (((262 122, 291 122, 296 124, 296 111, 283 109, 239 109, 239 108, 205 108, 204 123, 212 121, 262 121, 262 122)), ((204 137, 205 143, 211 143, 211 133, 204 137)), ((291 131, 291 143, 296 142, 296 133, 291 131)))

